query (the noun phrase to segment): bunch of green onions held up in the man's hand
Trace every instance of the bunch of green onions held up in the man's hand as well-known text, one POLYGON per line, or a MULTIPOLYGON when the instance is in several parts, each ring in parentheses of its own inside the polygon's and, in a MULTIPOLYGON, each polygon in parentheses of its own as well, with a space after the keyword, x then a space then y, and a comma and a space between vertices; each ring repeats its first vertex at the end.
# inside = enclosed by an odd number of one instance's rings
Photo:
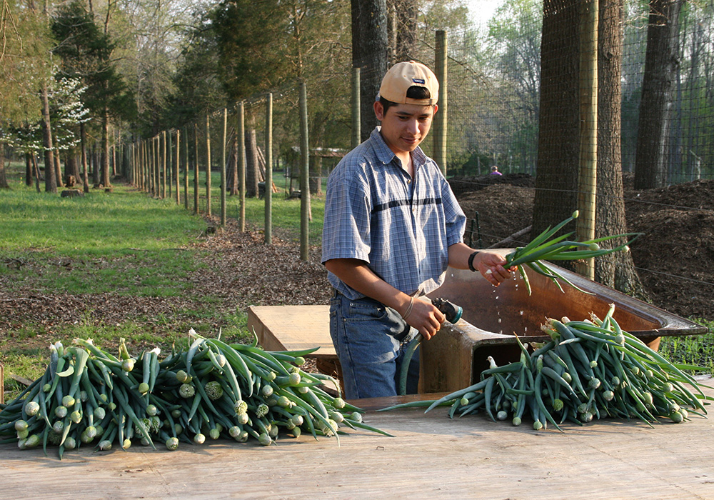
POLYGON ((603 236, 602 238, 589 239, 587 241, 570 241, 568 238, 573 235, 573 232, 571 231, 549 240, 549 238, 553 237, 555 233, 560 231, 565 224, 568 224, 568 222, 577 218, 578 211, 576 210, 573 212, 573 215, 568 217, 568 219, 565 219, 553 228, 549 227, 548 229, 545 229, 545 231, 536 236, 528 245, 518 247, 515 251, 506 256, 506 264, 504 267, 506 267, 506 269, 511 269, 512 267, 518 268, 518 273, 521 274, 523 281, 526 283, 529 295, 531 294, 531 283, 528 281, 528 275, 526 274, 525 269, 523 269, 523 266, 528 266, 536 273, 548 277, 561 291, 563 288, 560 286, 558 281, 563 281, 566 285, 583 291, 583 293, 589 293, 580 289, 578 286, 575 286, 575 284, 565 278, 565 276, 558 273, 558 271, 555 271, 555 269, 545 266, 545 264, 541 261, 585 260, 593 259, 594 257, 606 254, 612 254, 615 251, 629 251, 630 244, 632 244, 632 242, 640 236, 638 233, 625 233, 616 234, 614 236, 603 236), (612 249, 600 248, 600 243, 603 241, 625 238, 628 236, 635 237, 630 239, 627 243, 615 246, 615 248, 612 249))

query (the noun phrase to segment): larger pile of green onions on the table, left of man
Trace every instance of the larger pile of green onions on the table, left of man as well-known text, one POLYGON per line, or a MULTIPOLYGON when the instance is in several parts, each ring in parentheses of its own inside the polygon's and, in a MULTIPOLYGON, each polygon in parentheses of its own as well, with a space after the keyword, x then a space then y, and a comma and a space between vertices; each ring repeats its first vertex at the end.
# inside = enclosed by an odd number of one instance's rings
MULTIPOLYGON (((347 426, 376 431, 363 412, 324 390, 339 384, 300 366, 306 351, 264 351, 226 344, 190 332, 188 351, 159 360, 159 350, 129 354, 124 339, 119 356, 91 339, 50 346, 50 363, 14 400, 0 406, 0 442, 21 449, 48 444, 64 451, 82 445, 99 450, 141 442, 167 449, 180 442, 256 439, 269 445, 281 434, 338 436, 347 426)), ((337 437, 339 440, 339 438, 337 437)))

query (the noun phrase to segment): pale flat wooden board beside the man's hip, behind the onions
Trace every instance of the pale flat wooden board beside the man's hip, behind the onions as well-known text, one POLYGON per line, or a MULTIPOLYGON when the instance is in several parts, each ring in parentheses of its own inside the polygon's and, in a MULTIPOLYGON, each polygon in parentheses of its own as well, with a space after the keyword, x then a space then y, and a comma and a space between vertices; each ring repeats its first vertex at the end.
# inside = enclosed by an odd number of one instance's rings
POLYGON ((337 359, 330 336, 330 306, 250 306, 248 330, 268 351, 320 349, 313 358, 337 359))

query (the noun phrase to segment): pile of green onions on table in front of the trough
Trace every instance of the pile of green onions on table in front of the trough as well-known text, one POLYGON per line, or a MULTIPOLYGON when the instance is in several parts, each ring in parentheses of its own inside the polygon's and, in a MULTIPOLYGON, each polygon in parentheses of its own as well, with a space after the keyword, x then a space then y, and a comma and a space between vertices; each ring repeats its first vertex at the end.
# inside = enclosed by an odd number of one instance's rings
POLYGON ((613 318, 570 321, 548 319, 542 330, 550 341, 529 353, 521 346, 518 362, 491 367, 481 380, 435 401, 414 401, 384 410, 451 405, 448 414, 484 412, 496 420, 521 425, 533 419, 533 429, 565 421, 583 424, 605 417, 638 419, 650 426, 663 419, 679 423, 691 414, 705 416, 711 400, 705 387, 687 371, 697 366, 673 364, 640 339, 620 329, 613 318))

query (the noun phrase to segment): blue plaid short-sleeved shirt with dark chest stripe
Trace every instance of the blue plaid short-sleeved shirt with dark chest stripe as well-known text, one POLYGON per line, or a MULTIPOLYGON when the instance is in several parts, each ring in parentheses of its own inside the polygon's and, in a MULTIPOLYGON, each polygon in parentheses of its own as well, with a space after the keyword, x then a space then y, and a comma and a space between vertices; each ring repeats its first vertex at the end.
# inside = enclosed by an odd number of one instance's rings
MULTIPOLYGON (((443 283, 466 216, 436 162, 417 148, 412 180, 379 129, 328 178, 322 262, 359 259, 396 289, 428 294, 443 283)), ((334 274, 328 279, 350 299, 363 297, 334 274)))

